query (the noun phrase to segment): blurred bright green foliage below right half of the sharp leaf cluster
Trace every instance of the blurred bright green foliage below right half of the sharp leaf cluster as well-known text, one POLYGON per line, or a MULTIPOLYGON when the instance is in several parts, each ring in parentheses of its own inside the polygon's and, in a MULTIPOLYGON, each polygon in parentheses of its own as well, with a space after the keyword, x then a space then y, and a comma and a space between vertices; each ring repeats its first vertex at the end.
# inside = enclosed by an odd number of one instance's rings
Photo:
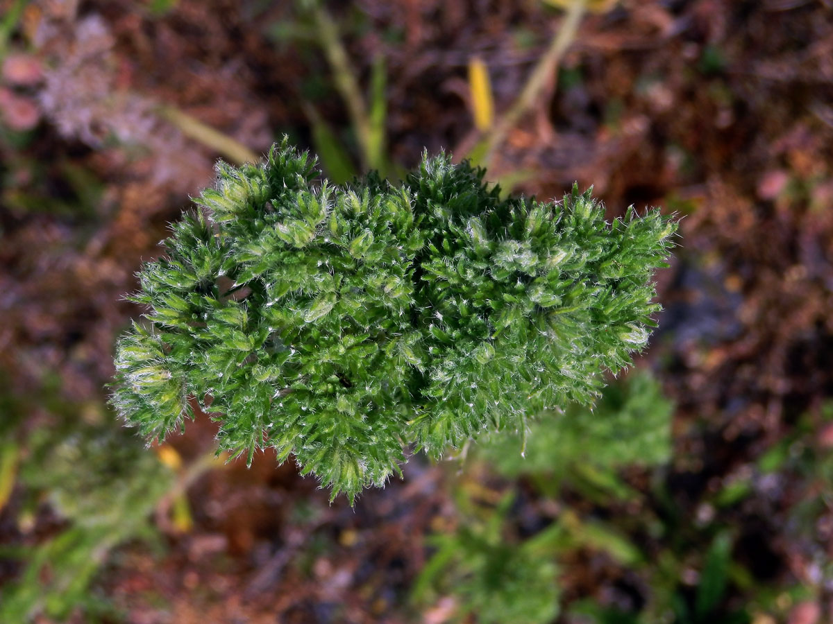
MULTIPOLYGON (((506 478, 530 478, 552 497, 567 480, 599 488, 607 498, 629 496, 616 469, 668 460, 672 407, 650 374, 630 374, 607 386, 592 411, 571 404, 563 414, 544 414, 526 432, 491 438, 475 457, 506 478)), ((557 557, 584 548, 622 566, 644 563, 640 549, 610 522, 581 518, 569 507, 534 536, 519 538, 508 514, 514 487, 492 508, 476 503, 466 481, 457 482, 459 526, 430 538, 436 552, 415 584, 416 601, 446 593, 456 598, 461 619, 471 613, 477 622, 546 624, 559 611, 557 557)))

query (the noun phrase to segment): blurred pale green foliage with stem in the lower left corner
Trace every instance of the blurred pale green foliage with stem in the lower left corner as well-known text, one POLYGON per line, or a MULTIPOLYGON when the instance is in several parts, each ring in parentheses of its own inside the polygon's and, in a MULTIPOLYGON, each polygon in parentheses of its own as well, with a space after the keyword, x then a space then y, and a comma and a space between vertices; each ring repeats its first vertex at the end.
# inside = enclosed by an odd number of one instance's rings
MULTIPOLYGON (((57 402, 52 397, 47 403, 57 402)), ((174 483, 172 470, 102 406, 63 404, 52 417, 28 434, 12 426, 0 432, 0 465, 19 458, 18 523, 32 524, 47 508, 60 519, 45 539, 0 549, 0 559, 21 566, 0 591, 0 622, 62 620, 79 610, 92 621, 108 612, 107 601, 91 592, 93 579, 114 547, 155 537, 152 511, 174 483)))

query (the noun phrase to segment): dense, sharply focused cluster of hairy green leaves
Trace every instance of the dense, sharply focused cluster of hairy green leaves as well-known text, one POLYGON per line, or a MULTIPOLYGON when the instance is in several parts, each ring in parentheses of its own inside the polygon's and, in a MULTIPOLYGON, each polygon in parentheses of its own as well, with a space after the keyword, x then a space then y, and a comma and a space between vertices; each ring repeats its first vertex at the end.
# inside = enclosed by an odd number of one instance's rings
POLYGON ((384 483, 408 443, 437 457, 591 402, 659 309, 658 211, 503 199, 446 154, 334 187, 286 140, 217 173, 140 273, 151 311, 119 340, 113 404, 163 436, 195 399, 221 449, 294 455, 334 495, 384 483))

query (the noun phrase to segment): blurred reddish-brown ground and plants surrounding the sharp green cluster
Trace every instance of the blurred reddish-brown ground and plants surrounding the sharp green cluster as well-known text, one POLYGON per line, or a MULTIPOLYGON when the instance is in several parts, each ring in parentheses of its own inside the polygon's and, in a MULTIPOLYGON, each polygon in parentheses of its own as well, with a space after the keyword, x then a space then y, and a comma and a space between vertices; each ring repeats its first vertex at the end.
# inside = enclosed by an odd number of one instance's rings
POLYGON ((0 622, 833 621, 831 0, 0 0, 0 622), (681 215, 591 414, 355 508, 107 409, 142 260, 286 134, 681 215))

